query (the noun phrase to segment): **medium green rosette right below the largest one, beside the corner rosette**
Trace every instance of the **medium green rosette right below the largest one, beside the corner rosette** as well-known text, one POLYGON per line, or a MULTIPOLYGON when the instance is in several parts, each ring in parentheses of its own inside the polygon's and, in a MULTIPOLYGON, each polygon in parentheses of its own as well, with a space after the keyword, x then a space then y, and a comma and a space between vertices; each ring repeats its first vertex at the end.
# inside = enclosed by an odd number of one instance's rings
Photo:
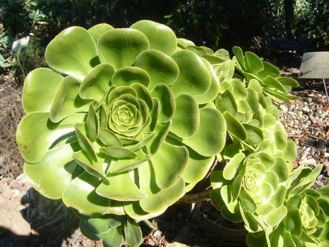
POLYGON ((228 220, 243 220, 249 233, 263 233, 287 215, 291 169, 284 158, 267 152, 235 154, 223 171, 212 173, 212 202, 228 220))

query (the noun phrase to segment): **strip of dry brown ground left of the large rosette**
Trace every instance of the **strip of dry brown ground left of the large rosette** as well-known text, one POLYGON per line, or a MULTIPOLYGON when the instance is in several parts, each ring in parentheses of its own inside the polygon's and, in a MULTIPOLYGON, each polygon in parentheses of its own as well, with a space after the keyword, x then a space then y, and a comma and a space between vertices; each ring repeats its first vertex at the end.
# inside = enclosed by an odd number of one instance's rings
POLYGON ((23 171, 23 158, 16 145, 16 128, 24 115, 22 87, 0 76, 0 178, 16 177, 23 171))

